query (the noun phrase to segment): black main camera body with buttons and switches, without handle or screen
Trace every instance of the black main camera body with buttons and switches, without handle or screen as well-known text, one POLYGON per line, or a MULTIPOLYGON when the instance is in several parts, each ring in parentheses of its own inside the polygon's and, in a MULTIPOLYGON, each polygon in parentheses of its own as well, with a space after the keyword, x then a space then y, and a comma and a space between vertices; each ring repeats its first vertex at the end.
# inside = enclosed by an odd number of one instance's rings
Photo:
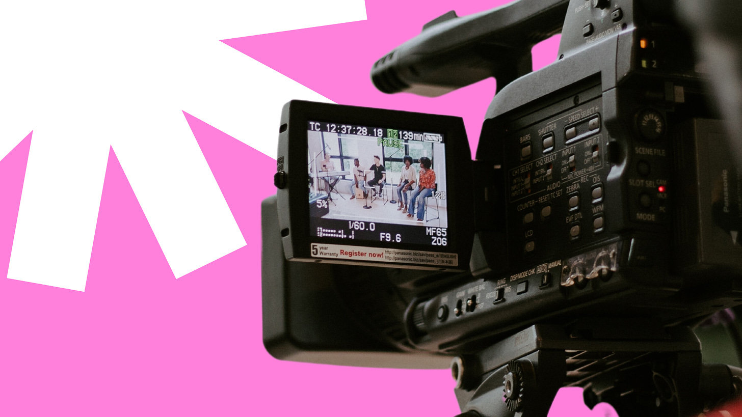
POLYGON ((474 176, 486 262, 418 301, 418 346, 457 352, 578 318, 680 323, 740 302, 742 248, 703 195, 720 180, 739 195, 723 180, 737 174, 690 50, 638 1, 571 1, 559 60, 487 111, 474 176))

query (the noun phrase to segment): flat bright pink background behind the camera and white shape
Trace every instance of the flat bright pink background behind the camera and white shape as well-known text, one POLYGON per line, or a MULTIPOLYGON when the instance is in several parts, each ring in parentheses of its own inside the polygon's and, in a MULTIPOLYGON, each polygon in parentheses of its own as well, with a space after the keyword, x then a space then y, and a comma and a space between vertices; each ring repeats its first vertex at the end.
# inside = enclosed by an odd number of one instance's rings
MULTIPOLYGON (((505 1, 459 1, 459 16, 505 1)), ((342 104, 463 116, 472 148, 492 79, 438 99, 375 91, 375 59, 454 7, 367 0, 365 22, 224 42, 342 104)), ((535 68, 558 39, 536 48, 535 68)), ((252 97, 260 100, 260 97, 252 97)), ((278 122, 280 109, 275 109, 278 122)), ((277 361, 262 344, 260 201, 275 160, 184 114, 247 246, 175 279, 111 151, 85 292, 0 280, 2 416, 450 416, 447 370, 277 361), (350 413, 347 414, 347 411, 350 413)), ((249 117, 249 115, 246 115, 249 117)), ((278 125, 276 126, 278 131, 278 125)), ((0 161, 0 274, 7 275, 30 134, 0 161)), ((562 390, 550 416, 603 416, 562 390)), ((600 407, 599 407, 600 408, 600 407)))

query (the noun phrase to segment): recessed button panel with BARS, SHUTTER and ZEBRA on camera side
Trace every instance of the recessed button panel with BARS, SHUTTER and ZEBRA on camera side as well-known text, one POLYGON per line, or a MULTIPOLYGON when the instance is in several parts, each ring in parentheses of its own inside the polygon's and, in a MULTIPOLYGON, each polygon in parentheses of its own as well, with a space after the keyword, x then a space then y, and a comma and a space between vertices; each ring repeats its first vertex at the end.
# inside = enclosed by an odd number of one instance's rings
POLYGON ((571 107, 560 107, 561 113, 533 116, 532 125, 508 128, 512 142, 506 142, 505 161, 515 162, 506 171, 508 241, 522 248, 510 252, 514 263, 533 262, 563 251, 565 245, 575 248, 600 238, 592 223, 597 215, 605 217, 604 182, 610 171, 602 93, 596 86, 592 99, 571 96, 565 99, 571 107))

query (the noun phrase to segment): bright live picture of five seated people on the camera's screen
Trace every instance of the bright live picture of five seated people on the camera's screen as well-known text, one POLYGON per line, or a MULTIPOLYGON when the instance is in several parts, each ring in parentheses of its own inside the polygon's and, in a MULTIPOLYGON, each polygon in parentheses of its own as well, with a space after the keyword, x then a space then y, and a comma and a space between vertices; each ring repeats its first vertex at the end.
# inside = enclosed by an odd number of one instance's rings
POLYGON ((447 227, 440 134, 316 125, 307 132, 310 217, 447 227))

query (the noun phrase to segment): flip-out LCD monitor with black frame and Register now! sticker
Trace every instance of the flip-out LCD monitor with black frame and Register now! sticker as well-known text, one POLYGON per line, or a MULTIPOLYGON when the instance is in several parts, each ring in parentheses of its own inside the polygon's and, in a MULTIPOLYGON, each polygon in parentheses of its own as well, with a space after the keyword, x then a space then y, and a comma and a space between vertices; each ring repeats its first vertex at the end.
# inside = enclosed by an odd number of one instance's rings
POLYGON ((461 118, 298 100, 281 117, 287 259, 466 268, 472 178, 461 118))

